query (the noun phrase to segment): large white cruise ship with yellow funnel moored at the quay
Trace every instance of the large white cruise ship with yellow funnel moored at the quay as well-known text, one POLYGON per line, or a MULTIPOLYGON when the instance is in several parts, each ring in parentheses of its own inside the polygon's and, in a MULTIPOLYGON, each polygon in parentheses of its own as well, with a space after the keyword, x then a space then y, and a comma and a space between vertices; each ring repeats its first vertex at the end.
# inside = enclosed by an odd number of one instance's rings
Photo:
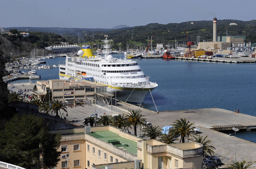
POLYGON ((106 39, 103 42, 104 56, 94 56, 89 46, 82 46, 76 57, 66 56, 65 64, 59 64, 59 78, 93 77, 95 82, 108 85, 108 93, 116 95, 117 100, 142 103, 158 84, 150 82, 138 63, 127 59, 127 53, 124 53, 123 59, 109 55, 110 41, 106 39))

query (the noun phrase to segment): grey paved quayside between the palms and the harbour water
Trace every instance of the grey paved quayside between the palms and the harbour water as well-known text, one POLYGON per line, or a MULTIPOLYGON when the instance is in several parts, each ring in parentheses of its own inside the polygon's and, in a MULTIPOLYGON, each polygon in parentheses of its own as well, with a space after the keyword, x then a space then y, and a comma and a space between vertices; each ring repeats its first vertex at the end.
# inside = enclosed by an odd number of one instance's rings
MULTIPOLYGON (((130 108, 138 109, 138 106, 120 103, 121 105, 130 108)), ((115 107, 113 107, 115 110, 115 107)), ((163 127, 165 125, 171 125, 175 120, 180 118, 189 118, 189 122, 195 123, 195 126, 200 127, 201 135, 208 136, 208 140, 211 140, 211 144, 216 148, 215 156, 221 158, 224 164, 232 164, 235 158, 235 138, 234 135, 229 136, 218 131, 214 131, 211 128, 213 126, 221 125, 256 125, 256 117, 246 114, 237 114, 233 111, 224 109, 211 108, 211 109, 193 109, 193 110, 180 110, 180 111, 167 111, 156 113, 144 108, 141 108, 143 115, 147 119, 147 122, 151 122, 152 125, 163 127)), ((96 105, 96 112, 108 111, 98 107, 96 105)), ((68 108, 69 116, 68 120, 73 121, 76 125, 83 125, 84 118, 95 112, 94 106, 73 107, 68 108)), ((111 111, 110 111, 111 112, 111 111)), ((121 113, 127 113, 127 111, 121 111, 121 113)), ((130 129, 133 132, 133 129, 130 129)), ((137 129, 139 134, 139 128, 137 129)), ((252 162, 250 168, 256 169, 256 144, 236 138, 236 161, 241 162, 246 160, 252 162)))

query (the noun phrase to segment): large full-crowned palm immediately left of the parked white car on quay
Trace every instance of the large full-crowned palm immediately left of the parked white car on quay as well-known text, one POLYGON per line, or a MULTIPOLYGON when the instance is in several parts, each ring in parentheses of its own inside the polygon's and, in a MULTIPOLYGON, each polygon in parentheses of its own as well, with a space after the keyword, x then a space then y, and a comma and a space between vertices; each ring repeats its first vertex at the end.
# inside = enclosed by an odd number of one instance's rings
POLYGON ((188 139, 193 133, 194 127, 191 127, 194 123, 188 124, 186 118, 180 118, 180 120, 175 120, 173 124, 173 129, 169 133, 173 133, 180 136, 180 142, 185 143, 185 138, 188 139))

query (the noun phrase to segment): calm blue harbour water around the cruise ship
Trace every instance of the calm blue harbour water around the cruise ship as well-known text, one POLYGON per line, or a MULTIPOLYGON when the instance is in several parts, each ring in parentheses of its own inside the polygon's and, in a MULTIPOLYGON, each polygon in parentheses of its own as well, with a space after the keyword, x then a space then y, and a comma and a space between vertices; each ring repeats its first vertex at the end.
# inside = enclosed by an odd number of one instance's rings
MULTIPOLYGON (((123 58, 123 55, 113 56, 123 58)), ((64 60, 47 59, 49 65, 57 65, 64 60)), ((152 91, 158 111, 217 107, 230 111, 239 108, 240 113, 256 115, 256 64, 160 58, 136 61, 145 75, 150 76, 150 81, 158 84, 152 91)), ((58 79, 58 71, 58 68, 37 70, 37 75, 41 75, 41 80, 58 79)), ((150 94, 143 101, 143 107, 156 111, 150 94)), ((237 132, 236 136, 256 143, 255 134, 256 131, 237 132)))

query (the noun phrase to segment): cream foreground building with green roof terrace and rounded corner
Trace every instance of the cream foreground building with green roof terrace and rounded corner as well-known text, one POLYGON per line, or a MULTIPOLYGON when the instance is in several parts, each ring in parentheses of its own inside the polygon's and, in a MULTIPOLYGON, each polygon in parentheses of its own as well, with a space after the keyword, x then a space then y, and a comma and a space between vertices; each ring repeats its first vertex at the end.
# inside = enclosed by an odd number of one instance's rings
MULTIPOLYGON (((147 169, 202 167, 202 144, 195 142, 164 144, 157 140, 143 140, 113 126, 88 126, 52 133, 61 134, 59 151, 61 156, 69 156, 67 168, 125 169, 135 165, 147 169)), ((63 158, 56 168, 65 168, 65 165, 66 159, 63 158)))

